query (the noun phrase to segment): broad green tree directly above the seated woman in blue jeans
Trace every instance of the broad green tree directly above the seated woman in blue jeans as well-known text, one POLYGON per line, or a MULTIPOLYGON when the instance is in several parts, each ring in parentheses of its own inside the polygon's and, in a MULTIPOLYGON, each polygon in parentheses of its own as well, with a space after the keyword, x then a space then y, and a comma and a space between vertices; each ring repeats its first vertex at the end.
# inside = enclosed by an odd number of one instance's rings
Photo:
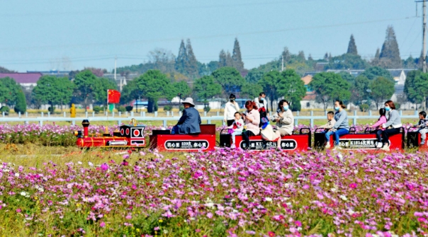
POLYGON ((315 91, 317 100, 324 104, 333 103, 333 100, 349 100, 351 93, 349 83, 334 72, 321 72, 315 74, 309 83, 310 88, 315 91))

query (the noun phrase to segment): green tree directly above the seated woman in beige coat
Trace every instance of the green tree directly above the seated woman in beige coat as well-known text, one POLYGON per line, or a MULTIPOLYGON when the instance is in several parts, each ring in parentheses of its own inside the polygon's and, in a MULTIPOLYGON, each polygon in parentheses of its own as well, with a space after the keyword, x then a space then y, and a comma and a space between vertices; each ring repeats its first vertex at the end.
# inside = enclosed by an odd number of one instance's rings
POLYGON ((300 110, 300 100, 306 95, 305 83, 293 69, 283 71, 281 76, 283 79, 278 84, 278 94, 288 100, 291 110, 300 110))

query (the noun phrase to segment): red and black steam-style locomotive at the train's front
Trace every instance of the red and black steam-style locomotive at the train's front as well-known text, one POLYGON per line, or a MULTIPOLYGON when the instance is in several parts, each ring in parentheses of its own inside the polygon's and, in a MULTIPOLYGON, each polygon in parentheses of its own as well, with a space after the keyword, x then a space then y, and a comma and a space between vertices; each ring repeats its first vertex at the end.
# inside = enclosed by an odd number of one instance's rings
POLYGON ((104 134, 89 134, 89 120, 83 120, 83 133, 76 131, 76 144, 80 148, 89 147, 123 147, 123 148, 143 148, 146 146, 144 129, 142 125, 123 125, 120 126, 119 132, 104 134))

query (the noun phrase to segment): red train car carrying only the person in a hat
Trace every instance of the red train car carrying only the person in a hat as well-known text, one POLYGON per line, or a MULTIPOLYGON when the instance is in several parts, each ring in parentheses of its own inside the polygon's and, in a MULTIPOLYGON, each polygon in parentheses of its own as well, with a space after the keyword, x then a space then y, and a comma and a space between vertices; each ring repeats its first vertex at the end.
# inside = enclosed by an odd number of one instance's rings
POLYGON ((200 134, 170 134, 169 130, 153 130, 150 149, 159 151, 213 151, 215 125, 200 125, 200 134))

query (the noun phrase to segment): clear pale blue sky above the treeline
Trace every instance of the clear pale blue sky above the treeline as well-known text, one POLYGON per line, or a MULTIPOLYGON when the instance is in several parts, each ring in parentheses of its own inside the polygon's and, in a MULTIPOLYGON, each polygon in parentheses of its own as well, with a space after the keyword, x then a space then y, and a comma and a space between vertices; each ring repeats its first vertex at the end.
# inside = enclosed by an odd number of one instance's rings
POLYGON ((157 48, 178 54, 190 39, 200 62, 240 42, 252 69, 291 53, 320 59, 374 56, 393 25, 405 59, 422 50, 422 4, 413 0, 0 0, 0 66, 25 71, 114 69, 149 60, 157 48))

